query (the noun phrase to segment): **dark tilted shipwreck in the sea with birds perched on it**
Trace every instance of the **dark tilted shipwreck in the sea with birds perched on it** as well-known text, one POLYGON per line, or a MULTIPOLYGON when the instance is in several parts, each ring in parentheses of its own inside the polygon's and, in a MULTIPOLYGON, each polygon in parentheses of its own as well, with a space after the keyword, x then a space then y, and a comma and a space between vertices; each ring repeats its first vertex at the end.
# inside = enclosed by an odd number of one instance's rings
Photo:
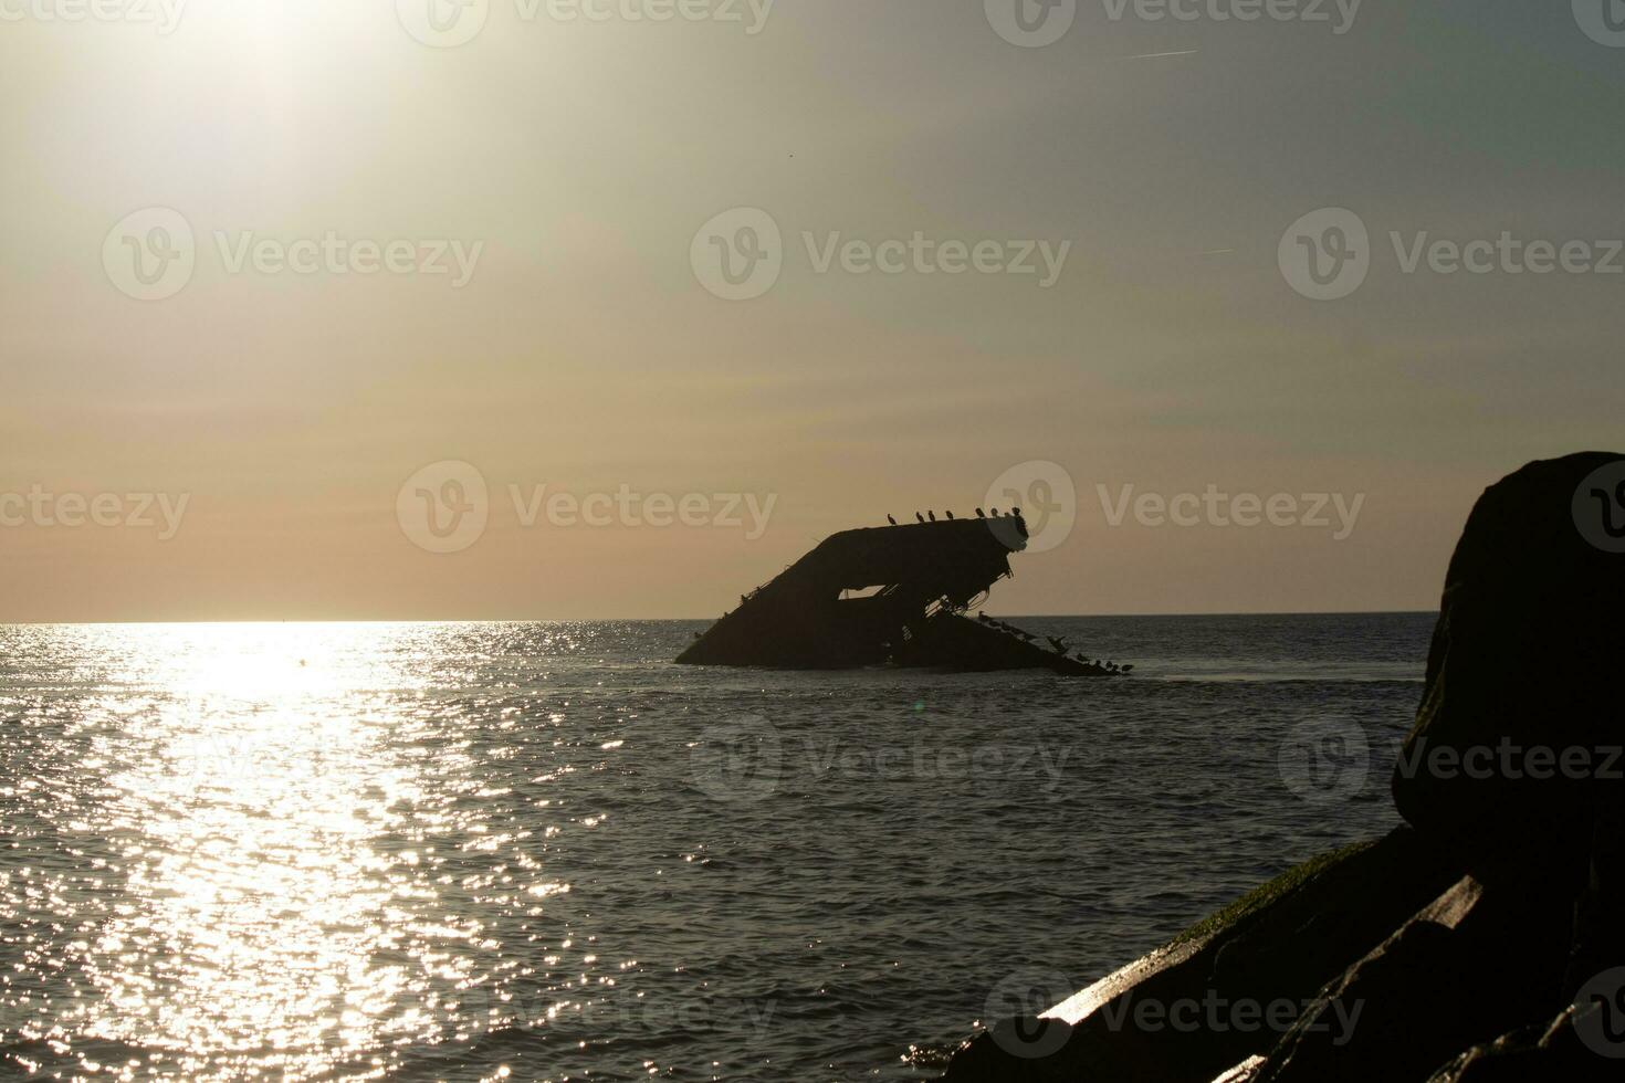
POLYGON ((686 666, 956 671, 1048 669, 1077 677, 1128 672, 1048 648, 991 617, 968 619, 1027 547, 1020 513, 842 531, 739 599, 678 656, 686 666))

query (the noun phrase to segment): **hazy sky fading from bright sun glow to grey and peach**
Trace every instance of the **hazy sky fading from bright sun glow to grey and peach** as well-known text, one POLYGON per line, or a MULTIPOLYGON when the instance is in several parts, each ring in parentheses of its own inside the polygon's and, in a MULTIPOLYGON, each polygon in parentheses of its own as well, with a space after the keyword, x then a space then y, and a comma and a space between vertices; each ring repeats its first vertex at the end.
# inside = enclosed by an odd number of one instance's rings
POLYGON ((91 2, 0 0, 0 620, 717 615, 1030 463, 1076 523, 996 612, 1422 609, 1485 484, 1625 443, 1586 0, 91 2), (1134 511, 1209 485, 1363 502, 1134 511))

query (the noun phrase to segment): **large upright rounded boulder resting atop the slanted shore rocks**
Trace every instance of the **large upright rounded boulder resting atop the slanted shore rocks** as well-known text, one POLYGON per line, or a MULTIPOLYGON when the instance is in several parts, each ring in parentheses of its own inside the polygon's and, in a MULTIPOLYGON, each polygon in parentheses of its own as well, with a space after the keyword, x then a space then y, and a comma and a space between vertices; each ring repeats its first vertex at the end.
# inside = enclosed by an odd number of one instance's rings
POLYGON ((1606 786, 1532 750, 1578 762, 1625 740, 1625 700, 1607 675, 1625 661, 1625 555, 1575 521, 1576 489, 1618 458, 1531 463, 1467 516, 1394 768, 1394 804, 1419 828, 1575 836, 1594 813, 1606 786))

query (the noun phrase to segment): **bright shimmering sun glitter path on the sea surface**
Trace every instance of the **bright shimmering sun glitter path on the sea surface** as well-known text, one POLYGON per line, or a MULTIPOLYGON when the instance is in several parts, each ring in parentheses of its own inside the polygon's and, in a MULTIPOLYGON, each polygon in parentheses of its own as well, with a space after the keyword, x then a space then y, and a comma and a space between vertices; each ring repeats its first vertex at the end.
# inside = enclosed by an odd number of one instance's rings
POLYGON ((445 870, 447 852, 512 836, 424 784, 455 774, 466 742, 431 739, 462 708, 431 695, 421 628, 101 632, 117 661, 99 684, 133 690, 81 734, 84 766, 106 771, 76 810, 106 818, 78 823, 106 849, 106 917, 72 945, 73 1002, 24 1036, 140 1051, 132 1078, 367 1078, 392 1046, 500 1021, 489 960, 460 950, 499 943, 458 903, 496 880, 531 903, 564 887, 523 856, 500 875, 445 870))

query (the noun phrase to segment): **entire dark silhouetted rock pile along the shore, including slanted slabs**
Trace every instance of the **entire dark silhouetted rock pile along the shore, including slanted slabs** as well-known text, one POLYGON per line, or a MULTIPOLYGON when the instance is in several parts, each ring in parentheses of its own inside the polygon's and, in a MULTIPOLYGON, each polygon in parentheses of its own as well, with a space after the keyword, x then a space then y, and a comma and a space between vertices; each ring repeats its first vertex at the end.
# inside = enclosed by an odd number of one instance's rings
POLYGON ((1410 826, 994 1023, 944 1080, 1625 1078, 1625 546, 1584 518, 1622 458, 1531 463, 1474 508, 1393 779, 1410 826))

